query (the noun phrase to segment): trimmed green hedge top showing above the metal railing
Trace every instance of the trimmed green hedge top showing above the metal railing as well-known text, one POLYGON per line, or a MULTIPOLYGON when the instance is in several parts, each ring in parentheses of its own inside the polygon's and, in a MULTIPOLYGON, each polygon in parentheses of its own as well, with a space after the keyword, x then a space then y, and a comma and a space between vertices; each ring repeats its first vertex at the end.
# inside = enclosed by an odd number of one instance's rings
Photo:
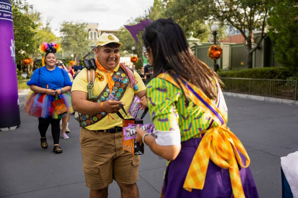
POLYGON ((287 79, 294 76, 294 74, 284 67, 263 67, 238 71, 220 71, 218 76, 227 78, 287 79))

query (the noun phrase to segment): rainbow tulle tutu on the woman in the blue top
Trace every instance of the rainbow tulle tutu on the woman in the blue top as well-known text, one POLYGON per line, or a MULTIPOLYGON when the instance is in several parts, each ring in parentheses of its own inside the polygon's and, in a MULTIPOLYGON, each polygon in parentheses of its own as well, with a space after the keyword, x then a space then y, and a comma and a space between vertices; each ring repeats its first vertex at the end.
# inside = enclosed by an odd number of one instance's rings
MULTIPOLYGON (((24 103, 25 112, 30 116, 35 116, 35 117, 47 118, 49 116, 52 116, 54 119, 60 119, 66 114, 57 115, 54 109, 54 106, 52 105, 52 102, 54 101, 54 97, 55 96, 52 96, 52 95, 31 92, 25 99, 25 103, 24 103)), ((68 110, 67 113, 73 113, 74 110, 72 109, 70 92, 60 94, 60 98, 63 99, 67 107, 67 110, 68 110)))

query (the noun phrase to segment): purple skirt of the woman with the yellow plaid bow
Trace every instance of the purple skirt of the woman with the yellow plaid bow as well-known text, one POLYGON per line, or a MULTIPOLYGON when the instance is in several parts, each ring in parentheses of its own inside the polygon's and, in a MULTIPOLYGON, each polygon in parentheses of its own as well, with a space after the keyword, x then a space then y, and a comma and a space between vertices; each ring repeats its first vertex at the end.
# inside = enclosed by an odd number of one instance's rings
MULTIPOLYGON (((181 151, 177 158, 171 161, 166 169, 163 185, 163 197, 187 197, 187 198, 231 198, 233 196, 230 175, 228 169, 216 166, 211 160, 208 164, 204 188, 202 190, 193 189, 189 192, 183 188, 184 180, 188 168, 193 159, 193 155, 198 148, 201 138, 192 138, 186 142, 181 142, 181 151)), ((245 157, 240 153, 242 161, 245 157)), ((243 164, 245 165, 245 164, 243 164)), ((239 167, 243 191, 246 198, 258 198, 257 187, 252 177, 249 167, 239 167)))

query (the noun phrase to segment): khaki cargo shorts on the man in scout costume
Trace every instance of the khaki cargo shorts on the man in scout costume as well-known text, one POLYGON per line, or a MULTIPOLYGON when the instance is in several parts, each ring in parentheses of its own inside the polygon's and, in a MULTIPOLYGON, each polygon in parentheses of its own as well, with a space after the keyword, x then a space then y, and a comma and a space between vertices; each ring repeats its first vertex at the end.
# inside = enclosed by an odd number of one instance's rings
POLYGON ((134 184, 139 180, 140 156, 122 151, 122 133, 103 133, 81 128, 80 144, 86 187, 99 190, 113 179, 134 184))

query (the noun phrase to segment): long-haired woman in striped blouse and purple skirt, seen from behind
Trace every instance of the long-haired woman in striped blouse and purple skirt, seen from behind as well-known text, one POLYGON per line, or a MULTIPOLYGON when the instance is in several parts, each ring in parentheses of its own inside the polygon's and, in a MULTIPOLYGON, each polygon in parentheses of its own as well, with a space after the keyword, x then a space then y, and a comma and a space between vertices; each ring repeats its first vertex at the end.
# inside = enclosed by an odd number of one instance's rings
POLYGON ((181 27, 159 19, 143 41, 153 76, 148 106, 157 138, 137 128, 138 142, 168 160, 163 197, 258 197, 249 156, 226 127, 227 107, 216 73, 190 50, 181 27))

